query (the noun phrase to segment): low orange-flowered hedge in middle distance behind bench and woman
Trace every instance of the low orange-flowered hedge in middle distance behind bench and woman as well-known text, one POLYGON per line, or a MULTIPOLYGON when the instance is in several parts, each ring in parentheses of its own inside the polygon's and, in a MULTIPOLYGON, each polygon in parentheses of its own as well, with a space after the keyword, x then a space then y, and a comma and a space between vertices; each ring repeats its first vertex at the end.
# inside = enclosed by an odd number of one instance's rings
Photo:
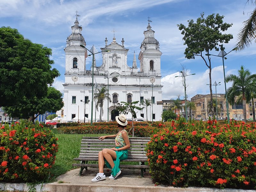
MULTIPOLYGON (((148 126, 147 122, 133 122, 134 124, 134 135, 136 137, 150 137, 153 133, 154 128, 148 126)), ((132 122, 128 122, 126 130, 129 131, 132 128, 132 122)), ((93 123, 93 126, 79 125, 71 127, 59 127, 57 128, 58 132, 66 134, 116 134, 118 128, 116 122, 101 122, 93 123)), ((130 133, 132 134, 132 132, 130 133)))

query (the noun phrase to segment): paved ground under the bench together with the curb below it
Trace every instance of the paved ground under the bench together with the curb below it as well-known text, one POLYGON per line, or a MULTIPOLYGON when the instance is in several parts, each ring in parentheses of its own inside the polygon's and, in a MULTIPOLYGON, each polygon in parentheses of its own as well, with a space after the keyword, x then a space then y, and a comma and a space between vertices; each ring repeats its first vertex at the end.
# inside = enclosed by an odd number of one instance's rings
MULTIPOLYGON (((126 169, 116 178, 109 180, 110 171, 104 169, 106 180, 92 182, 98 170, 88 168, 79 175, 79 169, 74 169, 61 175, 56 182, 36 186, 37 192, 256 192, 256 190, 242 189, 216 189, 216 188, 174 188, 155 186, 148 172, 145 177, 140 177, 139 169, 126 169)), ((28 191, 26 184, 0 183, 0 190, 28 191)))

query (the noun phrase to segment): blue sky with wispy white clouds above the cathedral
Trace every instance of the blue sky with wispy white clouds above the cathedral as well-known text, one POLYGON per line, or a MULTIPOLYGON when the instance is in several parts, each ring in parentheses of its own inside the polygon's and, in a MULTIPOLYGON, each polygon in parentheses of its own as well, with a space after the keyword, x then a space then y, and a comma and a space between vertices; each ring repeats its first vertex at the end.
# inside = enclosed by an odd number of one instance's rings
MULTIPOLYGON (((124 46, 129 49, 128 65, 132 66, 133 51, 135 51, 137 63, 140 52, 140 44, 144 39, 143 31, 147 29, 148 16, 150 23, 156 32, 155 38, 160 43, 161 73, 163 99, 184 98, 179 71, 181 65, 186 66, 188 74, 187 94, 188 99, 196 94, 208 94, 210 92, 208 68, 201 58, 188 60, 184 57, 182 35, 177 24, 187 26, 187 20, 196 20, 200 13, 205 16, 212 13, 224 15, 224 22, 233 23, 226 33, 233 34, 234 38, 225 44, 226 52, 232 50, 236 44, 237 34, 243 26, 243 21, 248 19, 249 12, 253 10, 251 4, 245 4, 246 0, 1 0, 0 23, 1 26, 17 28, 19 32, 34 43, 43 44, 52 49, 52 60, 61 76, 56 78, 53 86, 63 92, 65 73, 66 39, 71 34, 71 26, 76 19, 75 12, 81 15, 78 20, 82 25, 82 35, 85 38, 87 48, 94 44, 99 51, 105 46, 105 38, 108 43, 112 41, 113 29, 115 29, 116 41, 121 44, 124 38, 124 46), (244 14, 243 14, 244 12, 244 14)), ((212 51, 218 55, 218 52, 212 51)), ((254 64, 256 45, 241 52, 231 52, 225 60, 226 74, 236 74, 241 65, 256 73, 254 64)), ((96 65, 100 66, 102 58, 96 56, 96 65)), ((86 60, 86 68, 90 69, 92 61, 86 60)), ((212 83, 221 82, 217 87, 218 93, 224 93, 224 76, 222 60, 212 57, 212 83)), ((231 86, 231 84, 227 84, 231 86)), ((215 88, 213 87, 213 93, 215 88)))

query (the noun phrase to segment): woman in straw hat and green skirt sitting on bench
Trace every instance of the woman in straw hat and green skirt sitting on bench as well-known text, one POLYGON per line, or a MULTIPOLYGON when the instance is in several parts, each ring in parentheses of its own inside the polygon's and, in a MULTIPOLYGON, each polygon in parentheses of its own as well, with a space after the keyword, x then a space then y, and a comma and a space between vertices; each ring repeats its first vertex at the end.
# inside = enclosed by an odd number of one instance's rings
POLYGON ((128 123, 126 120, 126 116, 124 114, 116 116, 116 122, 119 130, 116 135, 107 135, 99 138, 100 140, 104 140, 105 138, 116 137, 116 147, 111 149, 103 149, 99 152, 99 173, 97 173, 97 175, 92 179, 92 182, 106 179, 106 175, 104 175, 103 172, 104 160, 106 161, 107 167, 110 169, 112 168, 111 176, 109 176, 108 178, 116 179, 116 177, 121 173, 121 170, 119 168, 120 160, 127 159, 128 157, 130 141, 128 137, 128 132, 125 130, 125 127, 128 123))

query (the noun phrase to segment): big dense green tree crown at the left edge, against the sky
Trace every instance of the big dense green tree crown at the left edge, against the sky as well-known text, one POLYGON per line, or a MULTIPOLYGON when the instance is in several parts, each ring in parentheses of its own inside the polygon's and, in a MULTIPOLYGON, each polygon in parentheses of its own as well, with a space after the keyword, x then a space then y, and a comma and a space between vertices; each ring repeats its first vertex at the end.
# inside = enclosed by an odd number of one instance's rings
POLYGON ((48 84, 60 76, 51 69, 51 55, 51 49, 24 39, 17 29, 0 28, 0 107, 46 96, 48 84))

